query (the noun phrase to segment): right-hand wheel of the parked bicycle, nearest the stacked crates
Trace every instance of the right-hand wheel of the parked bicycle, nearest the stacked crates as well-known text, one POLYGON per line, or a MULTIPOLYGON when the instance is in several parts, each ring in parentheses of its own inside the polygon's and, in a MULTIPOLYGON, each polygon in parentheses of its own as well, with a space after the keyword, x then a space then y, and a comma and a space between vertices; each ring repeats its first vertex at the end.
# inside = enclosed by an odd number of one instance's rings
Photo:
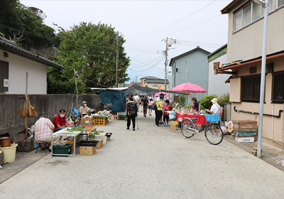
POLYGON ((210 124, 205 129, 205 136, 207 141, 209 141, 209 143, 213 145, 220 144, 224 137, 223 131, 218 124, 210 124))

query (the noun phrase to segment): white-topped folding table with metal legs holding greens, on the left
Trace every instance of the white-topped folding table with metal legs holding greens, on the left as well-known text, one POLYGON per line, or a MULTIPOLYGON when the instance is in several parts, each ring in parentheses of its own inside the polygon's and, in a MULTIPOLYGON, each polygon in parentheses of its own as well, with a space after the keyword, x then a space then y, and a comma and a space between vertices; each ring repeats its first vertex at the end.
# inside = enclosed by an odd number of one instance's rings
MULTIPOLYGON (((71 129, 70 127, 66 129, 71 129)), ((76 136, 85 132, 87 134, 87 128, 82 131, 66 131, 66 129, 61 129, 60 131, 56 131, 51 136, 51 156, 74 156, 75 157, 75 148, 76 148, 76 136), (73 154, 53 154, 53 136, 67 136, 67 137, 74 137, 74 151, 73 154)))

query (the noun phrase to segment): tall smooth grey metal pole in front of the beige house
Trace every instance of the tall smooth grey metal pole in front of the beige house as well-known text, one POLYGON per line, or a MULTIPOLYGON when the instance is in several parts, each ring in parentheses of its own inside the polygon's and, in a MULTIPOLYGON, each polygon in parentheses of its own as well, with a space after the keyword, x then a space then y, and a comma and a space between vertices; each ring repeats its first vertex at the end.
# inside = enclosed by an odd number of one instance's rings
POLYGON ((258 150, 257 156, 261 157, 261 141, 263 129, 263 102, 264 102, 264 87, 266 81, 266 43, 267 43, 267 26, 268 26, 268 1, 265 0, 264 18, 263 18, 263 43, 262 43, 262 60, 261 60, 261 95, 259 102, 259 122, 258 122, 258 150))

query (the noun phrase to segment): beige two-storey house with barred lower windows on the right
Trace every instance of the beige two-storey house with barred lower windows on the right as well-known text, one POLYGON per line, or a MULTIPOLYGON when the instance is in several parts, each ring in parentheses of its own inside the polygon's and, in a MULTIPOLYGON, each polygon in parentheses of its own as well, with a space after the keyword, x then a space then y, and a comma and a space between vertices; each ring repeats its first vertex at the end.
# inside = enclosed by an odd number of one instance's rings
MULTIPOLYGON (((269 0, 268 10, 262 135, 266 141, 281 144, 284 103, 284 1, 269 0)), ((264 9, 251 0, 234 0, 221 12, 229 16, 227 63, 231 64, 222 65, 218 70, 224 72, 231 69, 236 72, 236 75, 230 78, 231 118, 258 122, 264 9)))

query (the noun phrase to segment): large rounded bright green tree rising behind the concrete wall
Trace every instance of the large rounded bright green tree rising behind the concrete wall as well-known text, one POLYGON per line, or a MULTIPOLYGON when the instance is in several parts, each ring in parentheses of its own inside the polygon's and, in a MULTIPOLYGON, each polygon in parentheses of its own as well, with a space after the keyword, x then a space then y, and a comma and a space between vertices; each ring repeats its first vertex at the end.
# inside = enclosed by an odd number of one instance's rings
MULTIPOLYGON (((112 87, 116 82, 116 33, 114 28, 104 23, 94 25, 81 22, 61 33, 60 48, 55 60, 64 65, 59 78, 62 82, 74 76, 74 69, 87 87, 112 87), (90 81, 88 81, 90 80, 90 81)), ((123 44, 125 40, 119 36, 119 83, 129 80, 126 69, 129 57, 126 57, 123 44)), ((59 80, 58 79, 58 80, 59 80)))

